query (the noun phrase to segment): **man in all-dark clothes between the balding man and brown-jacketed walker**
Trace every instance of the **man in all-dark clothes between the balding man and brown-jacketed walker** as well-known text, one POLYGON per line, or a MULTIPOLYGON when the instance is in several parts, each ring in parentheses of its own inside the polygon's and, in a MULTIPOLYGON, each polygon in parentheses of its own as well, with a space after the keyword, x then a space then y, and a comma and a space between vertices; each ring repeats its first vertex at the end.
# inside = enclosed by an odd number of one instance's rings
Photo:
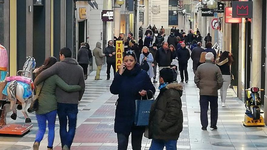
POLYGON ((178 61, 179 61, 181 82, 184 82, 184 78, 185 78, 185 83, 188 83, 187 66, 188 66, 188 60, 190 58, 190 53, 189 53, 189 50, 185 47, 184 42, 181 44, 181 48, 177 50, 176 54, 177 54, 178 61))

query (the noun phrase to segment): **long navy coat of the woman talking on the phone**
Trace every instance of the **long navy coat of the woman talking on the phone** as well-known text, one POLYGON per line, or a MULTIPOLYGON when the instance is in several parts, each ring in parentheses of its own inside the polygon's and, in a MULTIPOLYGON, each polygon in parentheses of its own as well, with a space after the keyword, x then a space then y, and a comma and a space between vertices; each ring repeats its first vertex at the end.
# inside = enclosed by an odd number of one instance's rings
MULTIPOLYGON (((139 94, 141 90, 147 91, 148 98, 152 98, 152 94, 156 91, 147 72, 141 70, 139 64, 135 65, 134 70, 126 69, 122 75, 118 72, 114 75, 110 92, 119 95, 115 112, 115 133, 130 135, 131 128, 134 126, 135 100, 141 99, 139 94)), ((146 99, 146 96, 143 99, 146 99)))

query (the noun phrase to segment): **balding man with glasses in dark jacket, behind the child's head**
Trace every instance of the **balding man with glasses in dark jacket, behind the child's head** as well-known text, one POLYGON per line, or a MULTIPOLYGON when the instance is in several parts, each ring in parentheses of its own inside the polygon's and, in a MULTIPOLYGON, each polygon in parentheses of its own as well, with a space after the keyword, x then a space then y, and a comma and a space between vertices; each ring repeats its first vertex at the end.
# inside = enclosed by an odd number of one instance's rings
POLYGON ((163 41, 161 43, 161 48, 157 50, 156 53, 156 62, 159 67, 159 71, 163 68, 170 68, 172 62, 171 50, 168 48, 168 42, 163 41))

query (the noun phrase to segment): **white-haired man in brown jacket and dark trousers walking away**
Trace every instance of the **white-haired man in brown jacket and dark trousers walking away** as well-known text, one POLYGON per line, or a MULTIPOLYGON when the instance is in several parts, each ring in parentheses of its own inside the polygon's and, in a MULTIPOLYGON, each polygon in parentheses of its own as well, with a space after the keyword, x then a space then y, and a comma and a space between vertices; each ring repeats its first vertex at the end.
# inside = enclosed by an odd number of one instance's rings
POLYGON ((211 109, 211 128, 217 129, 218 119, 218 89, 223 85, 221 70, 214 65, 214 56, 208 52, 205 56, 206 63, 200 65, 194 77, 194 81, 199 88, 200 95, 200 120, 202 130, 208 127, 208 106, 211 109))

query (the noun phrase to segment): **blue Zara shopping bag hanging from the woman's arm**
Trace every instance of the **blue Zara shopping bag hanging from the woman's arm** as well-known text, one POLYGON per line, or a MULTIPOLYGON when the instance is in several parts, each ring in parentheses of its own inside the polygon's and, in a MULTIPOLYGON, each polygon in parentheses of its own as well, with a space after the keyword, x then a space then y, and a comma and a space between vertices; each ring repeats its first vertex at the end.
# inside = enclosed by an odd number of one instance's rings
MULTIPOLYGON (((152 92, 151 90, 149 90, 152 92)), ((152 92, 153 94, 153 92, 152 92)), ((134 125, 136 126, 147 126, 149 121, 149 114, 151 105, 154 103, 155 98, 153 94, 153 100, 135 100, 135 118, 134 118, 134 125)))

